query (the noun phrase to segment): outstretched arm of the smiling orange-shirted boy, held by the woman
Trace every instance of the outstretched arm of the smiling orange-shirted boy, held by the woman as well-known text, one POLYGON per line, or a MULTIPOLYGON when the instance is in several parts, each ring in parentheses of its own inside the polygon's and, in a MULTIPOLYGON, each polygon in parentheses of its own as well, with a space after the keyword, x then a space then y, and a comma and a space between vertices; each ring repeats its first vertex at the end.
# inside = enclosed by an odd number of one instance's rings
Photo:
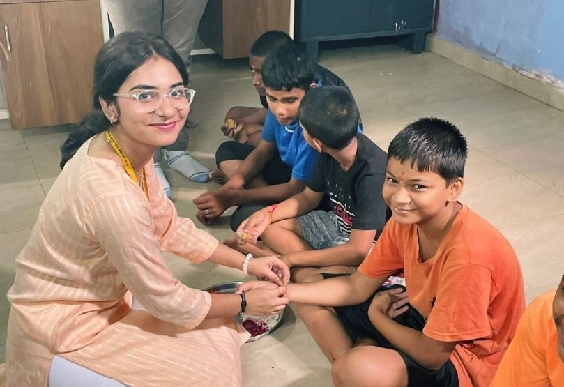
POLYGON ((359 271, 344 277, 304 284, 288 284, 290 301, 320 306, 356 305, 366 301, 382 286, 385 278, 370 278, 359 271))

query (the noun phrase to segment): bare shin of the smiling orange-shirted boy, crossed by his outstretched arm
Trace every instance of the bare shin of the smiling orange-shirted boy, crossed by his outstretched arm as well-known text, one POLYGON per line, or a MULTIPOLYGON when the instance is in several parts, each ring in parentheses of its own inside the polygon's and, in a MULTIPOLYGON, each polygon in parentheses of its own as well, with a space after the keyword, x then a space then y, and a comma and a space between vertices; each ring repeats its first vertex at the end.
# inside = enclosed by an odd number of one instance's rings
MULTIPOLYGON (((303 268, 300 273, 302 275, 300 282, 323 280, 320 271, 319 268, 303 268)), ((353 347, 351 337, 347 335, 333 308, 298 304, 298 314, 307 327, 307 331, 310 331, 315 342, 331 363, 353 347)))

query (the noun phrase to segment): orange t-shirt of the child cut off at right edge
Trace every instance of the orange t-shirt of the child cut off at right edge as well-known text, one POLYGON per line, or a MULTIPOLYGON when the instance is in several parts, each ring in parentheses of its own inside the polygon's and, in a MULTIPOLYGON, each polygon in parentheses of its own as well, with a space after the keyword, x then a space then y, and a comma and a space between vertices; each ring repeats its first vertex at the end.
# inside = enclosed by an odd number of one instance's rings
POLYGON ((552 317, 555 293, 547 291, 528 305, 491 387, 564 386, 564 361, 558 357, 552 317))

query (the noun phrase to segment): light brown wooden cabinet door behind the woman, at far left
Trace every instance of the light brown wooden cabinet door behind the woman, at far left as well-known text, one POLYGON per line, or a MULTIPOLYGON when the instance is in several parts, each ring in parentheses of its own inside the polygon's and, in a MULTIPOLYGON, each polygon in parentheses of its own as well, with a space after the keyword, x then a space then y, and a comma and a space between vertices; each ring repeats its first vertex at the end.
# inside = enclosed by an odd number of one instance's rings
POLYGON ((92 108, 100 0, 0 1, 0 59, 14 129, 79 121, 92 108))

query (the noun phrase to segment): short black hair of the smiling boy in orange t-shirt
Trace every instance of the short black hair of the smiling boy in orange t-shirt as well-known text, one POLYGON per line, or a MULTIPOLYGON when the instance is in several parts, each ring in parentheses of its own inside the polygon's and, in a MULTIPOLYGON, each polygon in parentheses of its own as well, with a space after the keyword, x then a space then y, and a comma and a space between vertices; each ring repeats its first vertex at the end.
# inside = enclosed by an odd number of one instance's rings
POLYGON ((435 117, 410 123, 390 142, 388 160, 411 161, 418 171, 439 174, 447 185, 464 177, 466 139, 452 123, 435 117))

